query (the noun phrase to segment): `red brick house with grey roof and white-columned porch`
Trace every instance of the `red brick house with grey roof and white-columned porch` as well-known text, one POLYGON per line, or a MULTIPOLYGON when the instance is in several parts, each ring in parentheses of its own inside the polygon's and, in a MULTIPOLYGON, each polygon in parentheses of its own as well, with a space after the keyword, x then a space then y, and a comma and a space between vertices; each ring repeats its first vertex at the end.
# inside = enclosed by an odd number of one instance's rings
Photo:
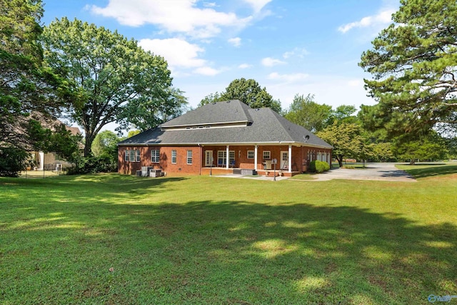
POLYGON ((118 145, 119 173, 136 174, 149 166, 175 176, 241 170, 293 176, 316 159, 331 164, 332 151, 275 111, 251 109, 238 100, 206 104, 118 145))

